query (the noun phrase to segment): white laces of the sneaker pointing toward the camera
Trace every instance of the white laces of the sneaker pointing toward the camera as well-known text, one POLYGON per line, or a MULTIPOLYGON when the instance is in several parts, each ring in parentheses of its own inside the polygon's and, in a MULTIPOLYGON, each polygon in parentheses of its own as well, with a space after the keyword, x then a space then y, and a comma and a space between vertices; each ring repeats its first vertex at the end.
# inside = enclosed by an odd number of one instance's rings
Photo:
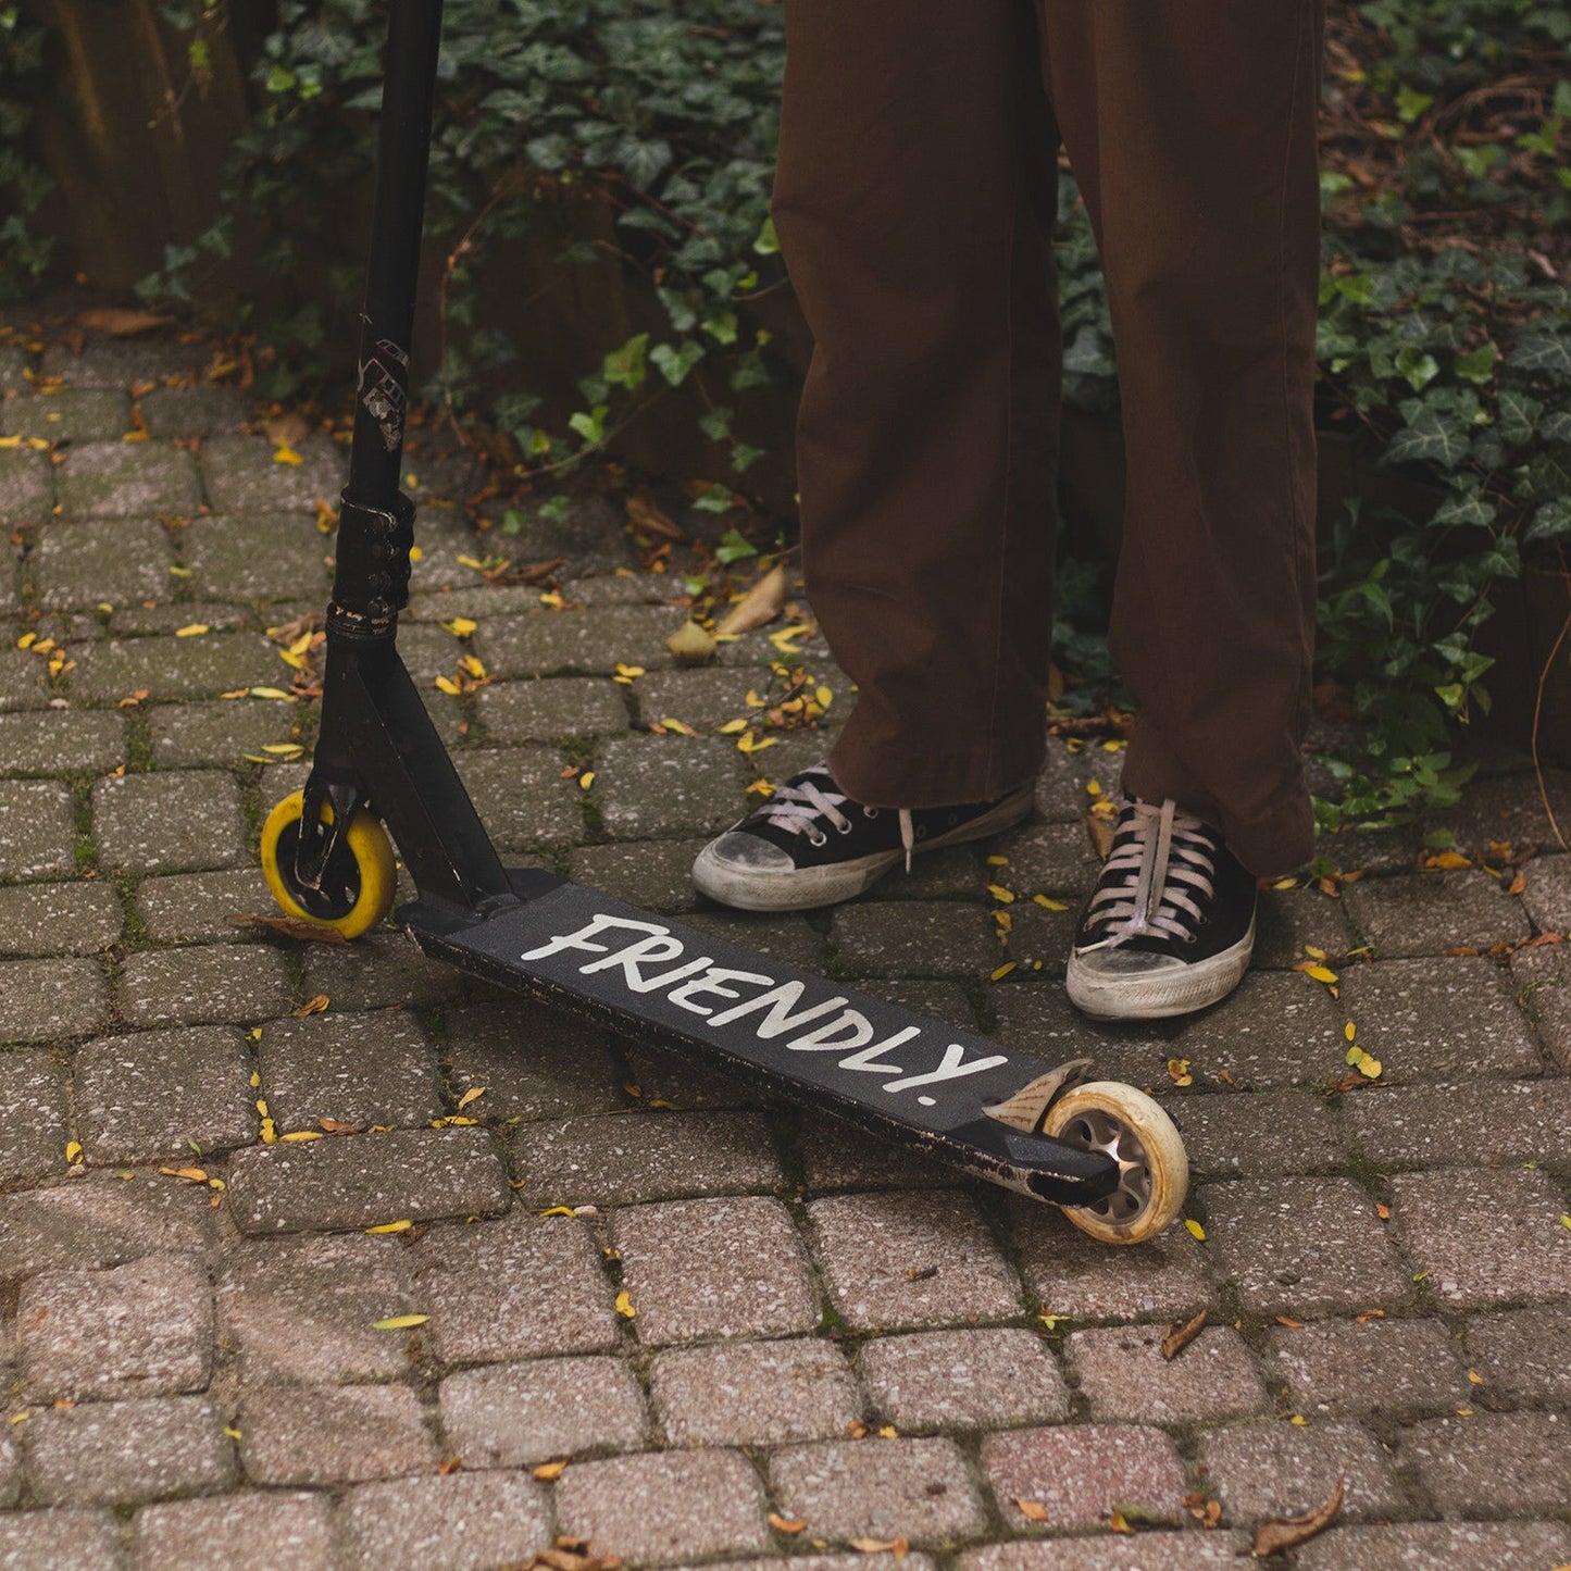
POLYGON ((1211 831, 1172 798, 1128 807, 1086 917, 1103 936, 1087 947, 1117 949, 1142 936, 1188 943, 1203 914, 1196 895, 1216 892, 1211 831))

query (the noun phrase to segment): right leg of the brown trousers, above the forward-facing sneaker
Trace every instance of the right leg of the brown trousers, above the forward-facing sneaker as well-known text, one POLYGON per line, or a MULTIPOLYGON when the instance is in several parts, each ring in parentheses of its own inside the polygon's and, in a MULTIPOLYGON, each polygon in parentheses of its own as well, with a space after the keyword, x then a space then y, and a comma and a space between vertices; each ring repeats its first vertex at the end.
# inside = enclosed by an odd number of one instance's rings
POLYGON ((1097 226, 1130 487, 1131 796, 1257 875, 1309 858, 1321 0, 1037 0, 1097 226))

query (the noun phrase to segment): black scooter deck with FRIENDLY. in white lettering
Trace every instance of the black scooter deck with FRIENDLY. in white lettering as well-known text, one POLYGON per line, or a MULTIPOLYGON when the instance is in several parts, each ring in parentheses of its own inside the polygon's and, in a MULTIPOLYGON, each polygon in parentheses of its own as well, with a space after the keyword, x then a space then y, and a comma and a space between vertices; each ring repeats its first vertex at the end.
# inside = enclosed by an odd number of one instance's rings
POLYGON ((415 903, 396 921, 437 960, 751 1071, 974 1177, 1060 1205, 1115 1188, 1117 1166, 1101 1152, 983 1112, 1051 1068, 1040 1059, 550 873, 509 877, 520 899, 479 917, 415 903))

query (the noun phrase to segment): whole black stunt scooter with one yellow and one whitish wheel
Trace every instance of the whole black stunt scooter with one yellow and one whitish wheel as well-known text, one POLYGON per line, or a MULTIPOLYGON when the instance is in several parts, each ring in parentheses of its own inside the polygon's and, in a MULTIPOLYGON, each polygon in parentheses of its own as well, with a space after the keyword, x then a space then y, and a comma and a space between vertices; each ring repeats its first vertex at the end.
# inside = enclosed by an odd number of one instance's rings
POLYGON ((338 525, 320 732, 273 807, 278 905, 355 938, 393 906, 393 840, 418 899, 394 921, 437 960, 1064 1207, 1106 1243, 1177 1218, 1188 1161, 1144 1092, 767 960, 534 869, 503 867, 399 658, 415 507, 399 489, 441 0, 390 0, 371 264, 338 525), (386 825, 386 829, 383 829, 386 825))

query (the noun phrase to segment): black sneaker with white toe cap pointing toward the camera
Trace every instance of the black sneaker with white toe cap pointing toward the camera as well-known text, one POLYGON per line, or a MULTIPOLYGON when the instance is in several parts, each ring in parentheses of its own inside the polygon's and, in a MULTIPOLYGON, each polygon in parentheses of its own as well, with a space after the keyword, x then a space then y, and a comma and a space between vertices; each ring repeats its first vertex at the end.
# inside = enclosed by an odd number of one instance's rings
POLYGON ((1192 812, 1125 801, 1075 933, 1070 1001, 1100 1020, 1159 1020, 1227 998, 1255 947, 1255 888, 1192 812))

